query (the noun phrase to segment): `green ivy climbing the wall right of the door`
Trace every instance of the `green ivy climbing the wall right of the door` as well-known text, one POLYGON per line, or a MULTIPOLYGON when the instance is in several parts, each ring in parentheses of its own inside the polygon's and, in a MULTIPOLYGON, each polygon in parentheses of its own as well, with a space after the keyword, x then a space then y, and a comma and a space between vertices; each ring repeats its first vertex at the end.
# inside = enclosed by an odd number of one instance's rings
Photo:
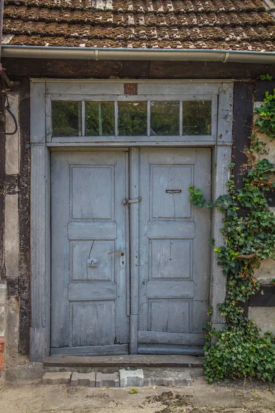
MULTIPOLYGON (((256 113, 259 114, 256 132, 265 132, 273 140, 275 90, 274 95, 266 94, 263 106, 256 109, 256 113)), ((217 208, 224 215, 221 231, 225 245, 216 246, 214 251, 227 277, 225 300, 219 304, 226 326, 217 331, 208 324, 204 371, 209 383, 240 377, 275 380, 275 337, 270 332, 261 335, 254 321, 244 316, 242 306, 260 288, 254 277, 255 270, 263 260, 275 257, 275 216, 268 206, 268 196, 275 189, 272 180, 275 165, 267 159, 265 146, 265 142, 253 134, 246 151, 248 173, 243 178, 242 189, 234 187, 234 164, 229 166, 228 194, 213 203, 206 202, 200 189, 190 187, 193 205, 217 208)))

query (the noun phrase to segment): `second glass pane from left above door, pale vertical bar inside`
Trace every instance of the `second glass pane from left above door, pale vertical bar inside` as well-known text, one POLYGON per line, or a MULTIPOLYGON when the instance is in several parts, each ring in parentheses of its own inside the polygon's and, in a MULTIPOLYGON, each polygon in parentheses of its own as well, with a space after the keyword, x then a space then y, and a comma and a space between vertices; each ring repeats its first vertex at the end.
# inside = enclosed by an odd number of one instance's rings
POLYGON ((115 135, 115 104, 114 102, 86 103, 86 135, 115 135))

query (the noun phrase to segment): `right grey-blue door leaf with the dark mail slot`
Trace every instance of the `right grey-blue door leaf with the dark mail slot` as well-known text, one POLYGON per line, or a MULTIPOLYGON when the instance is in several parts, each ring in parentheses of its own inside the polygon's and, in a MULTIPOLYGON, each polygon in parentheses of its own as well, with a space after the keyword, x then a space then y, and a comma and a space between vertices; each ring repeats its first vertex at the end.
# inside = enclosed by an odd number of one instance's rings
POLYGON ((210 290, 210 149, 140 150, 138 352, 199 354, 210 290))

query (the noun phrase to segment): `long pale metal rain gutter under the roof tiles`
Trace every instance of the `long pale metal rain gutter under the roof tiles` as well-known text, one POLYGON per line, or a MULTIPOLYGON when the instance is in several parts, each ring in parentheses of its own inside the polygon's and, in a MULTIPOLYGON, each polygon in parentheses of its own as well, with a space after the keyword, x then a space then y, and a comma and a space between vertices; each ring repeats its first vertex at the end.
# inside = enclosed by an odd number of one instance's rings
POLYGON ((275 52, 193 49, 121 49, 3 45, 2 56, 15 59, 83 59, 94 61, 211 61, 275 64, 275 52))

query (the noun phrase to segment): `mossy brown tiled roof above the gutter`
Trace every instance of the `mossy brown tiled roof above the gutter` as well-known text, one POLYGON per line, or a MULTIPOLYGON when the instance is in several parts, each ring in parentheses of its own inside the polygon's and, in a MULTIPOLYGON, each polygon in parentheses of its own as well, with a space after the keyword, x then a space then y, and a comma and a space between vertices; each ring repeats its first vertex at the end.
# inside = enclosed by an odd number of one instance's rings
POLYGON ((261 0, 5 0, 3 28, 11 45, 275 52, 261 0))

